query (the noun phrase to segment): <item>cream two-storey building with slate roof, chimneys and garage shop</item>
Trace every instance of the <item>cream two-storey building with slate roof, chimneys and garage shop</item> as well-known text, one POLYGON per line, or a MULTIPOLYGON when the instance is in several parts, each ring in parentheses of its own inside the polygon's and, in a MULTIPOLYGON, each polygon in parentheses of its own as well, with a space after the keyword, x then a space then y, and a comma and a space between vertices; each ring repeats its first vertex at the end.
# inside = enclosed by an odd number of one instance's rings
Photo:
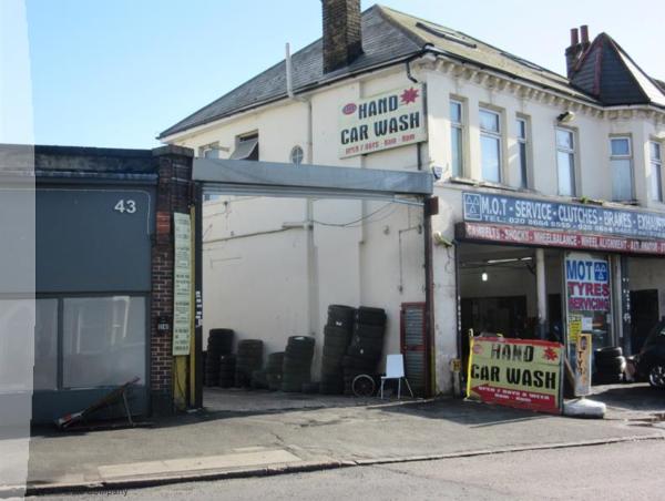
POLYGON ((585 27, 563 76, 383 7, 323 6, 321 40, 160 139, 207 157, 431 171, 431 247, 408 204, 209 200, 205 328, 279 350, 286 334, 321 339, 329 304, 379 306, 398 352, 401 305, 431 286, 437 392, 469 329, 563 342, 581 325, 636 350, 665 315, 665 84, 585 27))

